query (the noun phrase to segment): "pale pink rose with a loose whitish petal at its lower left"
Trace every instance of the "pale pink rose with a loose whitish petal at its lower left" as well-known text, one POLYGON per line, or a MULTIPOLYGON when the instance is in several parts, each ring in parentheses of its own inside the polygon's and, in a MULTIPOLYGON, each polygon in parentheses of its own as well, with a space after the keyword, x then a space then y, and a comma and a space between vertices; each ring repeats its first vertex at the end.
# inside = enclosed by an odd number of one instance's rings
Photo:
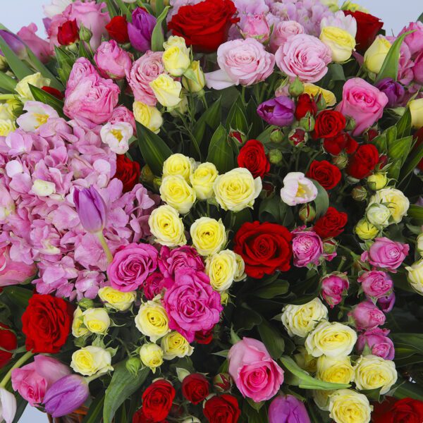
POLYGON ((207 87, 216 90, 231 85, 252 85, 264 81, 274 71, 275 56, 257 39, 234 39, 217 49, 219 71, 206 74, 207 87))

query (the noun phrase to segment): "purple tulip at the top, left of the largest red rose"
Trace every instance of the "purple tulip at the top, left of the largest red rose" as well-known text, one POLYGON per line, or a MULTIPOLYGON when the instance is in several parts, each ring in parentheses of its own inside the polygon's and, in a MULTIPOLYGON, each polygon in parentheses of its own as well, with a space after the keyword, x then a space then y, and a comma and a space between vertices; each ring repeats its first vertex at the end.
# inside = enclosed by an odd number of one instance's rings
POLYGON ((132 23, 128 23, 130 44, 138 51, 147 51, 152 47, 152 32, 157 19, 144 8, 133 11, 132 23))

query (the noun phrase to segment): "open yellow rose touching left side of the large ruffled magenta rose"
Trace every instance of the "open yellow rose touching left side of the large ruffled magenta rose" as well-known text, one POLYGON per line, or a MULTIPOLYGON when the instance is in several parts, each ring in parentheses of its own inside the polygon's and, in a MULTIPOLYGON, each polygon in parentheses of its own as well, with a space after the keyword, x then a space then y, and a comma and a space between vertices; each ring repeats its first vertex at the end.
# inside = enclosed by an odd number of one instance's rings
POLYGON ((141 305, 137 316, 135 316, 135 326, 152 342, 156 342, 171 331, 166 310, 160 302, 154 300, 149 300, 141 305))

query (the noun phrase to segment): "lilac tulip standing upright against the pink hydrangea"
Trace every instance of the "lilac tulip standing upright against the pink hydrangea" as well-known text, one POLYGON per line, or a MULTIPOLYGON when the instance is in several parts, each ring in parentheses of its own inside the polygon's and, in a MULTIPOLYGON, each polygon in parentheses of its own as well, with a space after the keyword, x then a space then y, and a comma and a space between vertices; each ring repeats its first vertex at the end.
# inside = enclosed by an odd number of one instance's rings
POLYGON ((91 186, 73 191, 76 212, 85 231, 101 232, 106 225, 106 204, 99 192, 91 186))

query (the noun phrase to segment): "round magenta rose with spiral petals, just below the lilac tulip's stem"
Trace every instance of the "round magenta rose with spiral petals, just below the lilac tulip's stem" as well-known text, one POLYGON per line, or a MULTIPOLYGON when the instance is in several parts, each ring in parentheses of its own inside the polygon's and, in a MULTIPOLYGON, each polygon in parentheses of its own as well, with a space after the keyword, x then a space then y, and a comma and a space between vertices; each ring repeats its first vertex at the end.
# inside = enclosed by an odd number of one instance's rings
POLYGON ((157 269, 159 253, 149 244, 128 244, 115 253, 107 266, 107 276, 112 288, 124 293, 136 290, 147 276, 157 269))

